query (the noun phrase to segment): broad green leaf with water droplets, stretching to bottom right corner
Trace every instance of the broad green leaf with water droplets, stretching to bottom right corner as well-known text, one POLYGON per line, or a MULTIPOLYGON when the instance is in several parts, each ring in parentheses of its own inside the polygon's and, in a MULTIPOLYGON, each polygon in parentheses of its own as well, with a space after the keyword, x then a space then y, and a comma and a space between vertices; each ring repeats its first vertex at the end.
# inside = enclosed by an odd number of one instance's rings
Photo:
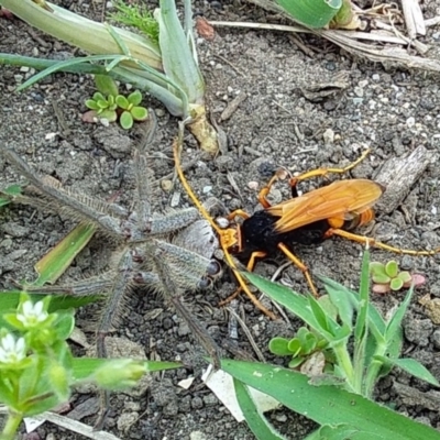
POLYGON ((275 365, 223 360, 221 369, 319 425, 346 425, 352 440, 440 440, 440 432, 334 386, 314 386, 309 377, 275 365))

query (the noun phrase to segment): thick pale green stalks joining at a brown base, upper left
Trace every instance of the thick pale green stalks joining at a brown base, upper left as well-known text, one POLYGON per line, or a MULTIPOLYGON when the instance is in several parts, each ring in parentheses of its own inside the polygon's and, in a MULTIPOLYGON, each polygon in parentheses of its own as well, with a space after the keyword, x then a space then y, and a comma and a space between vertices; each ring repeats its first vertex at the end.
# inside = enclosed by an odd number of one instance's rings
MULTIPOLYGON (((64 62, 0 54, 0 64, 43 70, 22 84, 19 91, 55 72, 107 75, 162 101, 173 116, 186 123, 204 150, 217 152, 218 134, 208 121, 205 107, 206 87, 193 35, 190 0, 184 1, 184 24, 177 16, 174 0, 161 0, 161 8, 154 12, 155 26, 144 26, 139 20, 143 13, 136 15, 132 8, 122 8, 119 14, 113 14, 117 20, 121 20, 121 14, 125 16, 124 24, 140 26, 138 33, 88 20, 44 0, 0 0, 0 4, 29 24, 90 54, 64 62)), ((129 112, 134 119, 135 114, 129 112)), ((129 123, 130 117, 124 119, 129 123)))

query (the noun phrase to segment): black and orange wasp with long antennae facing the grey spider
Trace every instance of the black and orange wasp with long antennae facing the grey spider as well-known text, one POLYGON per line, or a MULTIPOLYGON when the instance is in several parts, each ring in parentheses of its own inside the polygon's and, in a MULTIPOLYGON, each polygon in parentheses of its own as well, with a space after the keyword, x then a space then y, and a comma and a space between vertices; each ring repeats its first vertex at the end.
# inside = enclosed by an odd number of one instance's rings
POLYGON ((378 183, 369 179, 337 180, 301 196, 298 195, 298 183, 312 177, 327 177, 329 174, 344 174, 359 165, 370 153, 369 150, 343 168, 317 168, 292 177, 289 179, 292 198, 271 206, 267 195, 275 182, 278 180, 278 175, 275 175, 258 194, 258 201, 263 209, 252 216, 241 209, 234 210, 227 217, 229 222, 233 222, 233 226, 221 229, 206 212, 185 178, 179 160, 182 145, 180 135, 174 144, 174 157, 182 185, 218 233, 226 261, 240 284, 239 289, 220 305, 224 305, 244 290, 260 310, 268 317, 275 318, 274 314, 267 310, 251 293, 232 254, 240 257, 248 256, 246 268, 252 272, 257 258, 264 258, 275 251, 282 251, 304 273, 311 293, 317 297, 318 290, 311 279, 309 268, 289 249, 293 243, 317 244, 338 235, 398 254, 416 256, 435 255, 440 252, 440 248, 432 251, 399 249, 352 232, 374 219, 372 207, 385 190, 378 183), (241 224, 234 222, 237 217, 243 219, 241 224))

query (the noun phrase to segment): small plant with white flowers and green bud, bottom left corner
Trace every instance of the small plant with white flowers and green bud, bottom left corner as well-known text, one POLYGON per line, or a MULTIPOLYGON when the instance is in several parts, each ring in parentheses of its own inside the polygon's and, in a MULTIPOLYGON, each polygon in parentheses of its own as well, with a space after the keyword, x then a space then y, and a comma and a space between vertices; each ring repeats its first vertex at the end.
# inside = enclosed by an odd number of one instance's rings
POLYGON ((15 439, 24 417, 68 402, 75 386, 94 383, 101 389, 121 391, 134 386, 147 372, 180 366, 74 358, 67 343, 75 327, 72 308, 59 308, 59 301, 56 308, 50 296, 35 301, 25 292, 1 294, 0 403, 8 408, 1 440, 15 439))

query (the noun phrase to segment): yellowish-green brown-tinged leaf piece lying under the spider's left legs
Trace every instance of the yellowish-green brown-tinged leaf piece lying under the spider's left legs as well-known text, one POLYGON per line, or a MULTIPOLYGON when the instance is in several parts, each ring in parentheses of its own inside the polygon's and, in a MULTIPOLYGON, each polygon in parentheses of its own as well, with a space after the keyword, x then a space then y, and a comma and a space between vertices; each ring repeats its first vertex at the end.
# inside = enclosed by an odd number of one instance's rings
POLYGON ((54 284, 87 245, 95 231, 96 228, 90 223, 79 223, 35 264, 38 277, 31 285, 43 286, 46 283, 54 284))

